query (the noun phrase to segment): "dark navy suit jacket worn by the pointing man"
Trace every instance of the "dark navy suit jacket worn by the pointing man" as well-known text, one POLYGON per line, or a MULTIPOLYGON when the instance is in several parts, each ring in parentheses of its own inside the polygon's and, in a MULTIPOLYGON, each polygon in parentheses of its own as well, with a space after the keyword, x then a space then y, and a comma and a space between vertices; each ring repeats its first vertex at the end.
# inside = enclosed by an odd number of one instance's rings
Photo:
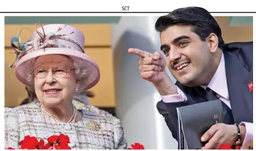
MULTIPOLYGON (((225 59, 225 71, 227 77, 228 94, 235 123, 252 123, 252 91, 248 88, 248 83, 253 82, 252 58, 253 42, 228 43, 223 49, 225 59)), ((172 136, 178 140, 178 116, 177 107, 197 104, 208 101, 205 98, 205 90, 202 87, 186 87, 175 83, 188 100, 185 102, 165 103, 159 101, 157 104, 158 112, 164 116, 172 136)))

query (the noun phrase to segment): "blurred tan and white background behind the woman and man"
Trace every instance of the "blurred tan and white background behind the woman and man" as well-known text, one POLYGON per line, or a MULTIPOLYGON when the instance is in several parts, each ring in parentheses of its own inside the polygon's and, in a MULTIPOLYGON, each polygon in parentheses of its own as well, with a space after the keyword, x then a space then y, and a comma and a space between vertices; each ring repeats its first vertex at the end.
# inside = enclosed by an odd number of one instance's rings
MULTIPOLYGON (((92 88, 91 105, 121 119, 128 146, 138 142, 145 149, 177 149, 177 141, 159 115, 161 101, 151 83, 142 80, 139 57, 130 47, 154 53, 159 51, 159 33, 154 29, 159 16, 5 16, 5 107, 17 107, 27 98, 25 86, 8 67, 15 60, 11 37, 22 28, 21 42, 35 30, 35 23, 67 23, 85 35, 85 53, 99 66, 101 79, 92 88)), ((252 16, 216 16, 225 43, 252 41, 252 16)), ((168 69, 167 72, 172 80, 168 69)))

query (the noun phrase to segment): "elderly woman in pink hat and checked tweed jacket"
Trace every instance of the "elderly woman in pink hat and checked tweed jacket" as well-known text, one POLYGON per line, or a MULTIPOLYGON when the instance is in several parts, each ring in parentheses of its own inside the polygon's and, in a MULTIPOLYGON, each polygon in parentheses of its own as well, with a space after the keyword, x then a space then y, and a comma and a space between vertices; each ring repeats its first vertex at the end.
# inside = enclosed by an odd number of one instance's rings
POLYGON ((99 81, 99 68, 84 53, 80 30, 45 25, 32 33, 25 50, 16 51, 19 55, 11 67, 21 83, 35 89, 40 103, 5 108, 5 149, 20 149, 19 142, 28 135, 47 142, 59 134, 69 137, 71 149, 127 149, 119 119, 72 104, 75 94, 99 81))

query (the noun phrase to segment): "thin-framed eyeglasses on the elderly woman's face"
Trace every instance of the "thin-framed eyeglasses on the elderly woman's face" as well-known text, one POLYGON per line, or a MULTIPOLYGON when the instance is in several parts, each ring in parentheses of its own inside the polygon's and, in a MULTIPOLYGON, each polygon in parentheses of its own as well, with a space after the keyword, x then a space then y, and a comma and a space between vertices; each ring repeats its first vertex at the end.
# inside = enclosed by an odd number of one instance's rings
POLYGON ((55 67, 52 70, 48 70, 46 68, 38 68, 36 70, 34 70, 34 76, 36 78, 45 78, 48 76, 49 71, 52 71, 52 74, 54 75, 54 77, 57 78, 63 78, 65 76, 67 76, 69 71, 75 70, 75 68, 68 70, 65 67, 55 67))

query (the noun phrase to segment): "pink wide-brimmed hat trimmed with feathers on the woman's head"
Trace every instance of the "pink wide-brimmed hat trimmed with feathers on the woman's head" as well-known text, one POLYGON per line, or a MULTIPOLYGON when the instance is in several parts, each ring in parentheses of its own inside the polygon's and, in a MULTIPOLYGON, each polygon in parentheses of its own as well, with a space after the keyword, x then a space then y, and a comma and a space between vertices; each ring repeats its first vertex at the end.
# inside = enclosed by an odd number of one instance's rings
MULTIPOLYGON (((37 25, 37 24, 36 24, 37 25)), ((38 28, 32 33, 31 41, 25 43, 25 50, 19 53, 15 63, 15 74, 21 83, 34 87, 34 80, 26 80, 26 74, 31 66, 29 61, 46 54, 64 54, 73 60, 80 60, 81 69, 86 69, 87 77, 81 79, 81 85, 87 85, 83 90, 94 87, 99 81, 99 67, 89 56, 84 53, 83 33, 69 25, 50 24, 38 28)))

